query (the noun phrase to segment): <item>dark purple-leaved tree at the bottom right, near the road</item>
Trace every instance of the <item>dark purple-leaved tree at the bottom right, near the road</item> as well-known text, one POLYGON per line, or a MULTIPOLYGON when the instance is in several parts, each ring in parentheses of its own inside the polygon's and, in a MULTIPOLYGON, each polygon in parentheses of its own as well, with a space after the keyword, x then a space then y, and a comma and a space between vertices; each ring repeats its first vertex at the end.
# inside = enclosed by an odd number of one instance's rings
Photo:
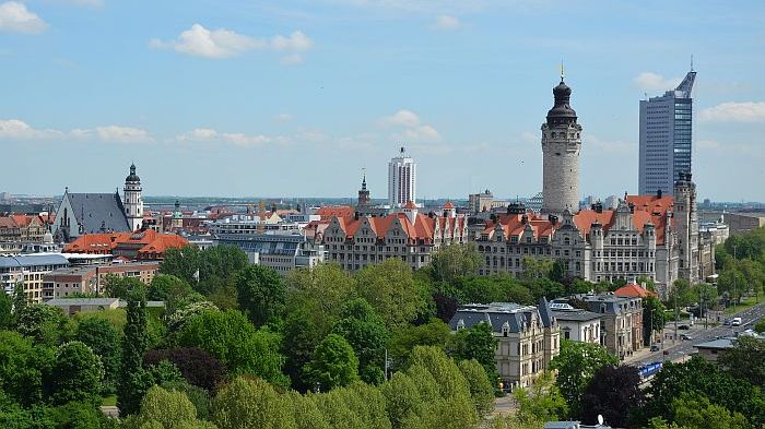
POLYGON ((629 419, 627 410, 640 408, 646 402, 639 384, 640 376, 636 367, 601 367, 581 395, 582 421, 596 425, 598 415, 602 415, 609 425, 626 427, 629 419))

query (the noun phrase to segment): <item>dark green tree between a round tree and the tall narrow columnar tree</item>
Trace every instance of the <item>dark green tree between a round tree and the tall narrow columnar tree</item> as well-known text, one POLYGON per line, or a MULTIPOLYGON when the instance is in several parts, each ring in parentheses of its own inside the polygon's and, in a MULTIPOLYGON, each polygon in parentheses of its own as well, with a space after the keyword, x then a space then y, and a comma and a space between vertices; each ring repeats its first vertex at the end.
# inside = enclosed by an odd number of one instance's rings
POLYGON ((78 324, 74 338, 87 345, 101 358, 104 365, 104 391, 113 392, 121 361, 117 330, 105 319, 83 319, 78 324))

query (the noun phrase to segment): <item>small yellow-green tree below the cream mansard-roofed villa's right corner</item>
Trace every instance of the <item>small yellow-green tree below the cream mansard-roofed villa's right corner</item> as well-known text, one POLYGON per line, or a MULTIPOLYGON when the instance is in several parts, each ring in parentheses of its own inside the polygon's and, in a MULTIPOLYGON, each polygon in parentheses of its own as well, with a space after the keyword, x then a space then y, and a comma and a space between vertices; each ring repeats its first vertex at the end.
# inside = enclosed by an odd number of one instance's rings
POLYGON ((568 415, 568 405, 555 385, 553 374, 545 372, 530 388, 513 391, 522 424, 560 420, 568 415))

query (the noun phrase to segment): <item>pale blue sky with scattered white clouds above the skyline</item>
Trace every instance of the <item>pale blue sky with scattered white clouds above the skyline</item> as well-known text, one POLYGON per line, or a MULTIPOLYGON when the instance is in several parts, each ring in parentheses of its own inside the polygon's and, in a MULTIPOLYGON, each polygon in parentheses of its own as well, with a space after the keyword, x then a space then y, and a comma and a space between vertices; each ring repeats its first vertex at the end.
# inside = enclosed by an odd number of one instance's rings
POLYGON ((0 0, 0 191, 530 196, 561 61, 582 196, 637 192, 639 100, 691 68, 699 199, 765 201, 765 2, 0 0))

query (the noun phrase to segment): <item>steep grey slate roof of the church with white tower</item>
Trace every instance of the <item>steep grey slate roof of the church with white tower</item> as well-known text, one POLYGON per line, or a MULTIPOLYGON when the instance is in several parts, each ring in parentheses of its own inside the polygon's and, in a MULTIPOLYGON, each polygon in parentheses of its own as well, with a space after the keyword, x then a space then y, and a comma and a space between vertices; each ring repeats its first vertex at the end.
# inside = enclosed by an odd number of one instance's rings
POLYGON ((130 233, 125 206, 118 193, 68 193, 74 217, 82 224, 84 234, 102 233, 102 222, 107 231, 130 233))

